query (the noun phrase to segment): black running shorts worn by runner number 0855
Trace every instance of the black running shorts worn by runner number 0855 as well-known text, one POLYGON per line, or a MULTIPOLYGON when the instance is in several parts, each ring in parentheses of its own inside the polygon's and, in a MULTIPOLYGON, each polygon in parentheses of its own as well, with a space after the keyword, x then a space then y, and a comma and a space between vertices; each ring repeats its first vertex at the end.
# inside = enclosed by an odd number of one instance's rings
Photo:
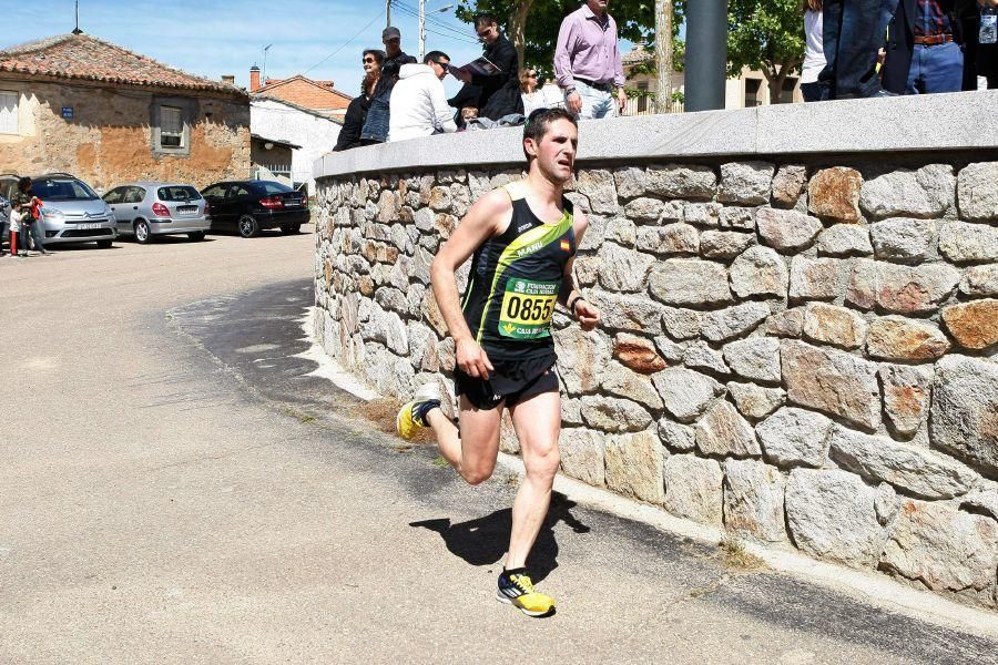
POLYGON ((506 400, 507 407, 543 392, 558 392, 558 372, 554 355, 544 355, 527 360, 492 360, 495 368, 489 380, 476 379, 454 369, 455 392, 468 398, 475 408, 491 410, 506 400))

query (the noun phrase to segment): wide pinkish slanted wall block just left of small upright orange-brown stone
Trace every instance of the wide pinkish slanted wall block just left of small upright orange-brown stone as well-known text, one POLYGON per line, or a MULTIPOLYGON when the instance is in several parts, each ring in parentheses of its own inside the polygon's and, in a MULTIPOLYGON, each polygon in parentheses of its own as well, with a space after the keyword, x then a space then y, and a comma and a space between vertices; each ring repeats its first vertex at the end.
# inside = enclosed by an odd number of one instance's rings
POLYGON ((865 430, 880 423, 877 366, 856 356, 785 339, 781 344, 787 400, 837 416, 865 430))

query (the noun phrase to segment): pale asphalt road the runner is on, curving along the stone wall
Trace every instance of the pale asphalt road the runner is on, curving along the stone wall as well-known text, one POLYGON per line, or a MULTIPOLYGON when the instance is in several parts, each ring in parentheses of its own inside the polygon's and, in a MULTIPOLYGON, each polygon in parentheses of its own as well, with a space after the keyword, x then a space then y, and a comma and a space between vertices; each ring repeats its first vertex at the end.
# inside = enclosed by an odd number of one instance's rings
POLYGON ((465 487, 295 356, 314 239, 0 259, 0 663, 998 663, 998 641, 558 498, 465 487))

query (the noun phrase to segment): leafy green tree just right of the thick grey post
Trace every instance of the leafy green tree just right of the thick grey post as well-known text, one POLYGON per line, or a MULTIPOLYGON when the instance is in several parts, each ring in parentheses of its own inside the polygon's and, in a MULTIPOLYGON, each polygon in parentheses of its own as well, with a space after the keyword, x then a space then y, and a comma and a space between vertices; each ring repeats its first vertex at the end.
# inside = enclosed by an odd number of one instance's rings
POLYGON ((761 70, 770 100, 780 102, 783 83, 804 62, 801 0, 729 0, 727 74, 761 70))

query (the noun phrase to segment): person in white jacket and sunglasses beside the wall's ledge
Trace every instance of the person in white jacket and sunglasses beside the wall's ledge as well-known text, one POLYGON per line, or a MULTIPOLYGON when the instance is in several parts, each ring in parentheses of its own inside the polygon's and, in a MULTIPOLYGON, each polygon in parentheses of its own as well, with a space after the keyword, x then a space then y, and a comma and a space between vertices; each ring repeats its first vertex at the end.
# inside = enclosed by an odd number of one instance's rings
POLYGON ((404 64, 391 90, 389 142, 457 131, 442 83, 450 58, 442 51, 430 51, 422 62, 404 64))

